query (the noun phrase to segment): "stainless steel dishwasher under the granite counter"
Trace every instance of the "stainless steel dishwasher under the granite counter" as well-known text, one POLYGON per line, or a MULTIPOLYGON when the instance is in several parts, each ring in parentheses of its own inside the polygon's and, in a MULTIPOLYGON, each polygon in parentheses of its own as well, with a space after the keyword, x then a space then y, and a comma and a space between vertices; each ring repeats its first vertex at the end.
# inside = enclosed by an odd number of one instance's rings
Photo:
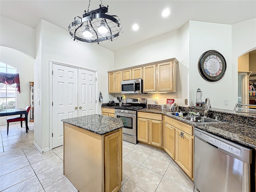
POLYGON ((252 149, 194 128, 194 184, 200 192, 250 192, 252 167, 252 149))

